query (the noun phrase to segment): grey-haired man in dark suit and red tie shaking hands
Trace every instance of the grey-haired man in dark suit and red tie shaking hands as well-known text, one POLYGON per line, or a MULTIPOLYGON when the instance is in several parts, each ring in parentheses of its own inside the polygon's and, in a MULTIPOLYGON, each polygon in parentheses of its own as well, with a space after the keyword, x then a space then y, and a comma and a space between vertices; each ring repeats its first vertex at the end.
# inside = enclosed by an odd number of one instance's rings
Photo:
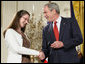
POLYGON ((43 29, 39 58, 44 60, 48 57, 48 63, 78 63, 76 46, 80 45, 83 39, 77 21, 61 17, 56 3, 44 6, 44 16, 49 23, 43 29))

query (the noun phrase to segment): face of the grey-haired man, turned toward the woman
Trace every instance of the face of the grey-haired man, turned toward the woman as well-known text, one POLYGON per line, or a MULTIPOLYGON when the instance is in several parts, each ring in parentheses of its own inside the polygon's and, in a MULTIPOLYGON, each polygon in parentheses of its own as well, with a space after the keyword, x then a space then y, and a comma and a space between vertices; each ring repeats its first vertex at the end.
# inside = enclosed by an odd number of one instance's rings
POLYGON ((44 16, 50 22, 53 21, 54 11, 50 11, 48 6, 44 7, 44 16))

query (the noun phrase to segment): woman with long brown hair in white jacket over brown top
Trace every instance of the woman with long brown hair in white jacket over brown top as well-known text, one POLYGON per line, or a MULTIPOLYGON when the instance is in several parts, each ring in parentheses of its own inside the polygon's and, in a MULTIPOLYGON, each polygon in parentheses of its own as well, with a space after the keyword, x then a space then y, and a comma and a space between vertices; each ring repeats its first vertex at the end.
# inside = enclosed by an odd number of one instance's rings
POLYGON ((26 10, 18 11, 10 26, 3 32, 8 48, 7 63, 30 63, 30 55, 39 54, 29 48, 30 42, 24 34, 29 18, 30 14, 26 10))

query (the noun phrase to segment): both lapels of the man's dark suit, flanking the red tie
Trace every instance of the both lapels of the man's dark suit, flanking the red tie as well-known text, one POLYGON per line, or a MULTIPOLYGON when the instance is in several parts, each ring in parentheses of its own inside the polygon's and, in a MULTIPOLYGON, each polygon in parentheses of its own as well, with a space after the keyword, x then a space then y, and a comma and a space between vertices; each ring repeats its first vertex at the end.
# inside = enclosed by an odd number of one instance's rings
MULTIPOLYGON (((61 38, 63 36, 63 33, 64 33, 65 24, 66 24, 65 21, 66 20, 62 17, 61 24, 60 24, 59 40, 61 40, 61 38)), ((49 24, 48 32, 50 34, 50 38, 52 39, 52 41, 56 41, 56 38, 55 38, 55 35, 54 35, 54 32, 53 32, 53 24, 52 24, 52 22, 49 24)))

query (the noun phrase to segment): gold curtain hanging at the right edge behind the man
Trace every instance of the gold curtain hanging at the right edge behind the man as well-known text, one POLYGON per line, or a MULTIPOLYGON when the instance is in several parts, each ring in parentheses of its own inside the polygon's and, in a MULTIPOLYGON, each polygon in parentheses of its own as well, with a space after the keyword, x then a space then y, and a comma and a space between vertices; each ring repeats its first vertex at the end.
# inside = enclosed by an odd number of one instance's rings
POLYGON ((72 1, 72 4, 75 17, 83 36, 83 43, 80 45, 80 52, 84 56, 84 1, 72 1))

